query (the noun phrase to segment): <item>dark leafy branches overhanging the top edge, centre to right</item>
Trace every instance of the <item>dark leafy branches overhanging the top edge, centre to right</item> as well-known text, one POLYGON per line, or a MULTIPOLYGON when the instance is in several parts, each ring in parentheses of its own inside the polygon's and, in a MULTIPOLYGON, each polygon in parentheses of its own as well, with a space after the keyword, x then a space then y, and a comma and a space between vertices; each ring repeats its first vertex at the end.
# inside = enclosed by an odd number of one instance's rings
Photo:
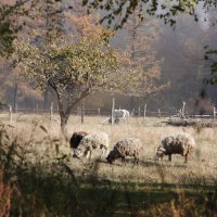
POLYGON ((174 26, 176 24, 176 16, 181 13, 190 14, 197 21, 200 13, 196 8, 197 5, 202 5, 205 14, 209 10, 217 8, 216 0, 82 0, 82 3, 89 8, 89 11, 92 9, 102 12, 106 11, 106 13, 102 13, 105 15, 102 16, 101 23, 106 22, 115 29, 122 28, 135 11, 137 11, 137 16, 140 20, 143 20, 146 14, 150 14, 174 26))

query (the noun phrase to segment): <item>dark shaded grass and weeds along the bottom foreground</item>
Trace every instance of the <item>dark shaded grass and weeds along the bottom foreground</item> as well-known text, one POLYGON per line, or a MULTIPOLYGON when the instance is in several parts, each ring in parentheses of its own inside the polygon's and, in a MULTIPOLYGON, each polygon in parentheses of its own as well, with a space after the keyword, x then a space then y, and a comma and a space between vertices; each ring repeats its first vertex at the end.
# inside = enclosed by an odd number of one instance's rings
POLYGON ((216 186, 118 182, 98 177, 93 163, 85 178, 65 164, 44 173, 20 170, 11 216, 214 216, 216 186), (34 215, 33 215, 34 214, 34 215), (178 215, 177 215, 178 216, 178 215))

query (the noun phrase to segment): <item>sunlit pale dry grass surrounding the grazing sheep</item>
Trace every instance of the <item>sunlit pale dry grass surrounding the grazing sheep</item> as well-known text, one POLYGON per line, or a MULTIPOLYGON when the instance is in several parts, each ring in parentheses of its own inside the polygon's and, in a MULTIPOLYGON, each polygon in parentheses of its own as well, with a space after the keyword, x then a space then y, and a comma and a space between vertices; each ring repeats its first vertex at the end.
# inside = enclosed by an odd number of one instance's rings
MULTIPOLYGON (((23 115, 18 116, 18 120, 12 123, 18 135, 23 138, 28 138, 33 133, 33 126, 44 126, 48 129, 48 135, 51 138, 61 138, 62 150, 64 154, 72 154, 68 146, 68 141, 64 140, 60 132, 59 117, 55 116, 52 123, 47 115, 23 115)), ((14 119, 17 119, 15 116, 14 119)), ((196 183, 203 182, 206 184, 213 184, 216 182, 217 177, 217 149, 216 138, 217 131, 215 128, 202 129, 200 133, 193 128, 182 127, 153 127, 151 124, 161 122, 159 118, 131 118, 127 125, 101 125, 105 117, 86 117, 85 124, 80 124, 79 116, 72 116, 67 126, 67 139, 74 131, 85 130, 104 131, 110 136, 110 149, 123 138, 135 137, 141 139, 144 145, 144 153, 140 161, 139 166, 132 166, 129 161, 126 166, 123 166, 119 161, 116 161, 114 165, 106 164, 105 161, 101 161, 98 166, 98 177, 102 179, 111 180, 125 180, 125 181, 138 181, 138 182, 153 182, 153 183, 196 183), (183 157, 180 155, 173 155, 173 162, 168 162, 167 157, 159 163, 154 159, 155 150, 159 140, 170 133, 186 131, 190 132, 196 141, 196 150, 192 155, 192 159, 186 165, 183 164, 183 157)), ((34 128, 34 136, 37 136, 38 141, 47 135, 40 127, 34 128)), ((38 145, 38 151, 48 152, 48 146, 38 145), (40 148, 39 148, 40 146, 40 148)), ((95 152, 95 157, 99 156, 99 152, 95 152)), ((87 159, 76 159, 72 155, 69 157, 68 165, 77 171, 77 175, 88 174, 89 166, 92 162, 87 159)))

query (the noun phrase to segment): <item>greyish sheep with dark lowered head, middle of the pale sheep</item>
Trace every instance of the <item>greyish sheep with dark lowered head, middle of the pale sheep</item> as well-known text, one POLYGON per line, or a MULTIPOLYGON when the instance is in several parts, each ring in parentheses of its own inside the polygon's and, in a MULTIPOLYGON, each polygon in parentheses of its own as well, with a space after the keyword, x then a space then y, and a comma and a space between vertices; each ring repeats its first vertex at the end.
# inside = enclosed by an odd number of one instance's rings
POLYGON ((143 151, 140 139, 127 138, 118 141, 114 149, 110 152, 106 159, 112 164, 116 158, 125 162, 126 156, 133 156, 135 163, 139 164, 139 157, 143 151))

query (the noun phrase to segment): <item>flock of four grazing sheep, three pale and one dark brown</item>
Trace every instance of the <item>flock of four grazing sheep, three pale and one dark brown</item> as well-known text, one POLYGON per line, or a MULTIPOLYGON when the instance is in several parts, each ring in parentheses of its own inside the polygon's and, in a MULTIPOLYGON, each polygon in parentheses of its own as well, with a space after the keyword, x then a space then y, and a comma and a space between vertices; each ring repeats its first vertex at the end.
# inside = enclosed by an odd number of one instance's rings
MULTIPOLYGON (((92 150, 100 149, 102 151, 101 157, 104 155, 110 164, 117 158, 122 158, 125 162, 127 156, 133 157, 135 163, 138 164, 143 153, 142 142, 137 138, 127 138, 117 141, 113 150, 108 153, 108 135, 105 132, 74 132, 69 143, 74 150, 75 157, 91 157, 92 150)), ((184 163, 187 163, 194 148, 194 138, 187 132, 180 132, 164 138, 157 146, 156 156, 162 161, 165 155, 168 155, 169 161, 171 161, 173 154, 180 154, 184 156, 184 163)))

